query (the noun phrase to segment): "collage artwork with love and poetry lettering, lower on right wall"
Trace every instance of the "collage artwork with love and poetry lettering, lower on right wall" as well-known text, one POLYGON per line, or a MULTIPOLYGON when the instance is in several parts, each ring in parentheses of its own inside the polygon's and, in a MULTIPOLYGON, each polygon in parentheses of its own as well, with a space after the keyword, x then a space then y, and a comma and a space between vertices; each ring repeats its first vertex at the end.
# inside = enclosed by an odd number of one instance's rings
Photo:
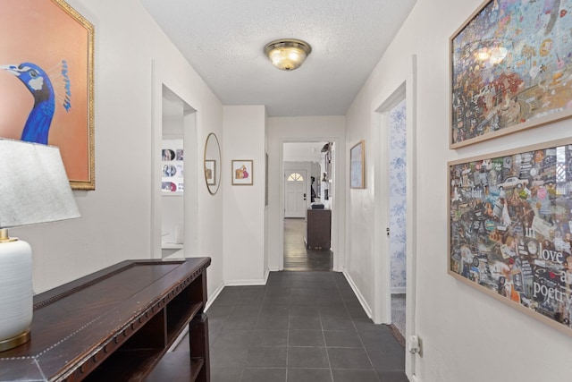
POLYGON ((449 272, 572 327, 572 145, 449 171, 449 272))

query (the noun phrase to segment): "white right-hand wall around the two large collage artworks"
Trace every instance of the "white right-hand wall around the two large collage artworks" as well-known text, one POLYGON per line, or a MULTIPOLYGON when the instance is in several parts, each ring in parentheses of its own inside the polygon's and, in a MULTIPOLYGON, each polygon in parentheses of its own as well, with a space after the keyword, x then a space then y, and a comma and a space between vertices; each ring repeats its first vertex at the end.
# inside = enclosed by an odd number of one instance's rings
MULTIPOLYGON (((347 118, 347 145, 372 141, 375 102, 405 81, 418 58, 416 97, 416 333, 423 356, 414 362, 424 382, 536 382, 572 375, 572 338, 495 301, 447 274, 447 162, 569 136, 569 121, 552 123, 464 149, 450 150, 449 39, 481 0, 417 0, 347 118)), ((366 163, 374 149, 366 146, 366 163)), ((367 182, 374 169, 367 166, 367 182)), ((346 269, 373 303, 374 190, 349 192, 346 269)))

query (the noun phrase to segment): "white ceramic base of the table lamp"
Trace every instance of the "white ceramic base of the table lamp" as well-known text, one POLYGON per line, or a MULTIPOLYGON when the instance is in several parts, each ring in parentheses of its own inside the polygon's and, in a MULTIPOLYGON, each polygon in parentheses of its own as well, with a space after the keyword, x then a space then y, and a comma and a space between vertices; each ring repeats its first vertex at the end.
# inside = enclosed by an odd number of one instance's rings
POLYGON ((29 244, 0 242, 0 352, 29 340, 33 307, 29 244))

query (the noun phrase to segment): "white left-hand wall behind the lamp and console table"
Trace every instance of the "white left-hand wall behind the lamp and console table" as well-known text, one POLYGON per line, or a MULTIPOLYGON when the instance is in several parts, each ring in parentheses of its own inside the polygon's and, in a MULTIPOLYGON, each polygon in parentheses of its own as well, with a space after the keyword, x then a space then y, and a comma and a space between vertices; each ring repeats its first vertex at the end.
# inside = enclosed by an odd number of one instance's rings
MULTIPOLYGON (((158 104, 154 102, 152 60, 160 62, 156 75, 198 110, 198 150, 202 152, 210 131, 220 133, 222 139, 220 102, 137 0, 68 3, 96 30, 96 190, 74 191, 80 219, 11 230, 34 251, 36 293, 122 259, 156 255, 150 242, 152 166, 156 163, 152 136, 157 111, 161 120, 161 95, 158 104)), ((204 184, 204 179, 198 182, 204 184)), ((198 198, 202 239, 194 255, 213 258, 208 268, 211 293, 223 283, 223 247, 218 240, 222 202, 218 195, 211 197, 206 186, 199 188, 198 198)))

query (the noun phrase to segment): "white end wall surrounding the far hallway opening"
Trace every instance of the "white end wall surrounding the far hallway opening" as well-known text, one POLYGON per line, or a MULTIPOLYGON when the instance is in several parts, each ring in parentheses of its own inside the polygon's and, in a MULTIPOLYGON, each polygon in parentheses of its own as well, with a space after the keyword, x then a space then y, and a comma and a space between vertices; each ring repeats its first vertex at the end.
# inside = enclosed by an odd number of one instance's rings
MULTIPOLYGON (((337 149, 341 155, 336 157, 336 160, 343 163, 345 160, 345 121, 343 116, 268 118, 268 267, 271 270, 282 270, 283 267, 283 201, 280 199, 281 189, 283 190, 282 143, 336 140, 336 145, 341 146, 339 150, 337 149)), ((343 184, 344 166, 336 166, 336 170, 343 184)), ((345 198, 344 189, 345 187, 341 185, 338 191, 339 200, 345 198)), ((338 203, 332 214, 332 239, 338 238, 337 244, 332 242, 334 269, 341 270, 345 245, 343 241, 345 205, 338 203)))

